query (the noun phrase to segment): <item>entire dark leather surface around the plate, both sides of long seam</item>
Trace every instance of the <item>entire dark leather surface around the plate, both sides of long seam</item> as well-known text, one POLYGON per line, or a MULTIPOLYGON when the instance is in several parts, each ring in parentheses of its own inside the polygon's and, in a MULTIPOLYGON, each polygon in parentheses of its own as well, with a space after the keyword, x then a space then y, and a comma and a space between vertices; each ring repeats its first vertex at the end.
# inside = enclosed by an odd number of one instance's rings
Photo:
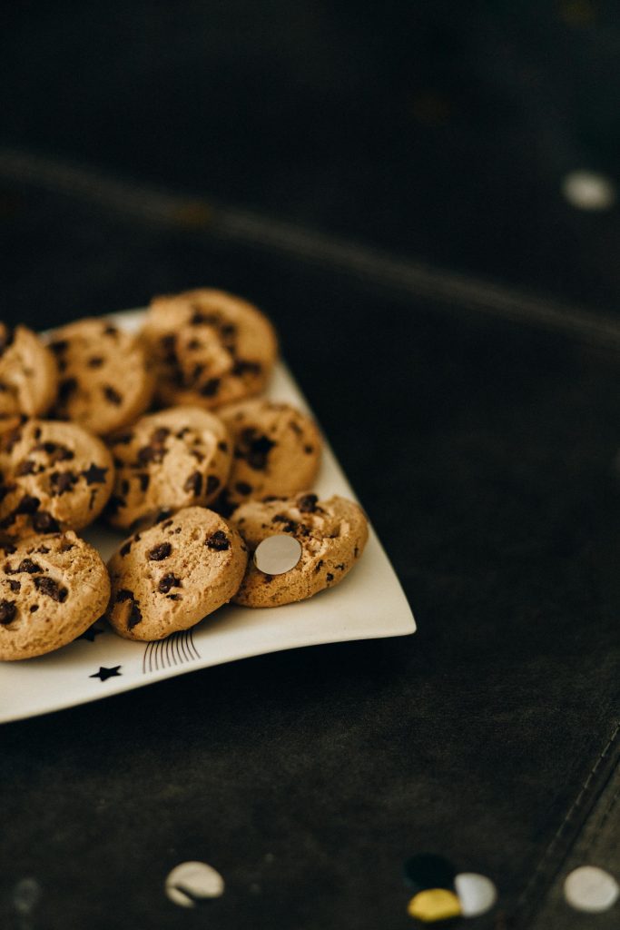
POLYGON ((581 830, 617 758, 618 212, 560 184, 613 177, 619 39, 577 7, 5 13, 4 316, 255 299, 419 631, 3 727, 3 928, 397 930, 421 851, 497 884, 464 926, 593 925, 545 901, 575 851, 618 869, 581 830), (192 858, 227 891, 179 910, 192 858))

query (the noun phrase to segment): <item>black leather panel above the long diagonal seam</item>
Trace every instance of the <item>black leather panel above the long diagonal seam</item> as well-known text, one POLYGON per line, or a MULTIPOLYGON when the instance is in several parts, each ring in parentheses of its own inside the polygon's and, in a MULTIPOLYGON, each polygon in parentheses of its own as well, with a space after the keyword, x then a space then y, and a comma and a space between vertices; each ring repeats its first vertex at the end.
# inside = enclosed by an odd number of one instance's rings
POLYGON ((0 141, 617 311, 614 0, 14 3, 0 141))

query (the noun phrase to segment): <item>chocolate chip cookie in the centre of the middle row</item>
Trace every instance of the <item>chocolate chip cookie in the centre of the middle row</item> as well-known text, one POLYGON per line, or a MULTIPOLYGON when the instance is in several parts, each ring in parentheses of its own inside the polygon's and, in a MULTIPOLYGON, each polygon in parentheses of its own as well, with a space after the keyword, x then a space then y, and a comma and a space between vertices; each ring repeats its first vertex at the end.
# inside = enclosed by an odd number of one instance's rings
POLYGON ((206 506, 226 484, 231 443, 215 414, 170 407, 109 439, 116 482, 107 516, 126 529, 159 512, 206 506))

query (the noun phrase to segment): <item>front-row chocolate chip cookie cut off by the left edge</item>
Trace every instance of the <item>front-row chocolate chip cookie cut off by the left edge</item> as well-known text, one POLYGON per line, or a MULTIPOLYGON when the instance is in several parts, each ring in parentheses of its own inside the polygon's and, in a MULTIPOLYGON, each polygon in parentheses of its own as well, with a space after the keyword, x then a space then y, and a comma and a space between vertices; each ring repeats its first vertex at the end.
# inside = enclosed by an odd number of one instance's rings
POLYGON ((43 656, 105 611, 110 578, 99 552, 72 531, 0 546, 0 659, 43 656))

